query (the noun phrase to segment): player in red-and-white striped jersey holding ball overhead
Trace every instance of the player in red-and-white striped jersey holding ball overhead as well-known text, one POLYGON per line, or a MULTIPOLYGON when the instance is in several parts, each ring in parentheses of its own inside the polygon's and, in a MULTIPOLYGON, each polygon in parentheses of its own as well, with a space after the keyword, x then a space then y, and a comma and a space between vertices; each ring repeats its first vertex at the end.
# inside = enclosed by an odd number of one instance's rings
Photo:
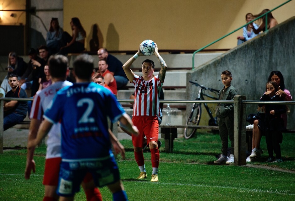
POLYGON ((151 182, 158 181, 159 168, 159 123, 158 117, 162 116, 160 109, 159 95, 166 75, 167 65, 158 52, 158 46, 155 43, 154 55, 158 58, 161 70, 158 75, 154 75, 155 64, 152 60, 146 59, 142 62, 142 76, 135 75, 130 66, 140 56, 144 56, 140 52, 131 57, 124 65, 123 69, 127 78, 134 85, 134 105, 132 122, 139 129, 139 135, 132 134, 132 143, 134 146, 135 160, 139 166, 140 174, 138 179, 146 178, 145 162, 142 153, 142 144, 146 136, 147 143, 150 145, 151 162, 153 167, 151 182))

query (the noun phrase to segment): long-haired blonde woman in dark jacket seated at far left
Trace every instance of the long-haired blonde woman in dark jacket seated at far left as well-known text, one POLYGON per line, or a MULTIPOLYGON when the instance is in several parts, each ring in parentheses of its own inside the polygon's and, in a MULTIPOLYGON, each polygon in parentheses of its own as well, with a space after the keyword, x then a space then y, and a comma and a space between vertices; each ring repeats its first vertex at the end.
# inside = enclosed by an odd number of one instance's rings
POLYGON ((27 63, 24 62, 24 59, 18 57, 15 52, 10 52, 8 54, 8 74, 5 76, 1 83, 1 87, 8 92, 11 90, 10 85, 8 84, 8 78, 10 74, 17 74, 20 77, 25 73, 27 69, 27 63))

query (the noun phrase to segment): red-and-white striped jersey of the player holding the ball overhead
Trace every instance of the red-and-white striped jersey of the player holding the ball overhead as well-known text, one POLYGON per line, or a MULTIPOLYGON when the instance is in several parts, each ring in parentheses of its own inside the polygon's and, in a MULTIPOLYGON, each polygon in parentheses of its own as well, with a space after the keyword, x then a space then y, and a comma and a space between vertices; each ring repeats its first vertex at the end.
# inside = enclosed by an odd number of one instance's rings
POLYGON ((162 117, 159 96, 163 83, 158 75, 149 81, 145 81, 142 76, 134 75, 132 84, 135 87, 133 116, 162 117))

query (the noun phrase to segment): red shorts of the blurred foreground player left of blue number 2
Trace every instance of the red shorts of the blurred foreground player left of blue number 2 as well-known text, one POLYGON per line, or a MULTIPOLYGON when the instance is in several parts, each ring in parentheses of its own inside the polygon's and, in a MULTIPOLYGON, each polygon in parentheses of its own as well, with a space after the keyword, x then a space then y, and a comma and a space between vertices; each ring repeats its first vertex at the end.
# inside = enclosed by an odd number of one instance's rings
POLYGON ((61 157, 49 158, 45 160, 43 185, 57 186, 59 166, 61 161, 62 161, 61 157))

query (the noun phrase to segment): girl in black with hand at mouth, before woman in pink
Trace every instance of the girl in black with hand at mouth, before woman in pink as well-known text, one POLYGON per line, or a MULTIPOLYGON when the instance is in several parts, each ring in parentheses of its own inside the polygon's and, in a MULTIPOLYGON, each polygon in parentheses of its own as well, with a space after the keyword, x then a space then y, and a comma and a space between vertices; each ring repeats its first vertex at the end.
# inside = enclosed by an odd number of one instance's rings
MULTIPOLYGON (((284 98, 280 95, 276 95, 279 91, 279 87, 276 82, 267 82, 265 87, 265 93, 261 97, 262 101, 283 101, 284 98)), ((286 105, 269 105, 259 104, 259 107, 265 106, 265 126, 267 133, 265 134, 265 141, 268 151, 268 159, 266 162, 279 163, 283 162, 281 159, 281 146, 282 133, 284 128, 284 120, 281 115, 286 113, 286 105), (276 159, 274 158, 273 151, 276 153, 276 159)))

